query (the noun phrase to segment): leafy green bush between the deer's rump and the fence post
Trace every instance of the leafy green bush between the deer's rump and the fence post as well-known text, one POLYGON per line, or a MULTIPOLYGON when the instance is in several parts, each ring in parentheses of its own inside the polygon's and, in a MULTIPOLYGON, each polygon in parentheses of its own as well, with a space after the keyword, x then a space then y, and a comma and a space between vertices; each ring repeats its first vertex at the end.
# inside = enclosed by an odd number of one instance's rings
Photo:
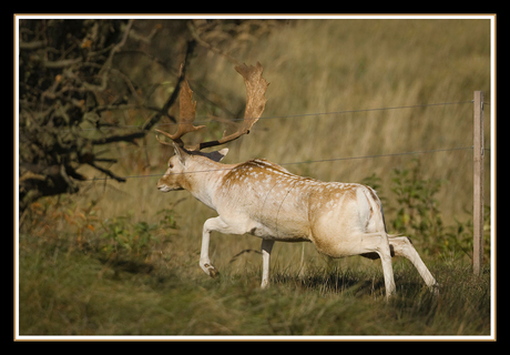
MULTIPOLYGON (((378 191, 382 202, 388 233, 402 234, 419 241, 425 254, 462 254, 471 256, 472 220, 465 222, 455 217, 455 223, 443 221, 436 195, 447 184, 445 180, 426 179, 419 159, 414 159, 408 168, 391 171, 391 195, 385 196, 380 178, 373 174, 363 180, 378 191)), ((471 214, 466 210, 467 214, 471 214)), ((484 209, 484 256, 490 257, 490 206, 484 209)))

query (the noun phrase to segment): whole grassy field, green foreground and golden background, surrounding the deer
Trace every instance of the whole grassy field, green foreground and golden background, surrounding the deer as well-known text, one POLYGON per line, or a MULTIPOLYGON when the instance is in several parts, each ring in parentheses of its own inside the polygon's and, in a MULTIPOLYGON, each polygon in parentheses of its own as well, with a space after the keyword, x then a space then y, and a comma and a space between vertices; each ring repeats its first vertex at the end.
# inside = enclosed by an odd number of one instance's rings
MULTIPOLYGON (((475 90, 483 90, 488 101, 489 30, 488 20, 288 21, 249 45, 223 50, 264 65, 271 82, 264 116, 275 118, 463 102, 475 90)), ((223 57, 198 52, 190 79, 192 88, 207 88, 202 92, 207 99, 243 110, 243 81, 223 57)), ((197 101, 198 116, 220 114, 217 106, 197 101)), ((470 146, 471 112, 467 103, 261 120, 228 146, 225 162, 470 146)), ((202 134, 224 129, 213 122, 202 134)), ((487 145, 490 131, 486 119, 487 145)), ((119 175, 162 174, 171 151, 152 136, 144 144, 119 144, 110 152, 120 159, 112 169, 119 175)), ((414 181, 424 186, 440 182, 426 200, 440 225, 431 222, 434 233, 427 226, 412 230, 416 248, 441 285, 438 297, 410 263, 397 258, 397 295, 387 303, 380 262, 328 260, 300 243, 275 244, 272 286, 263 291, 261 241, 248 235, 213 234, 211 257, 221 276, 212 280, 198 255, 202 225, 214 211, 186 192, 160 193, 157 176, 95 181, 83 183, 80 194, 40 200, 21 216, 20 335, 488 335, 490 258, 473 276, 468 242, 448 243, 453 230, 471 233, 471 154, 421 154, 419 164, 406 155, 286 166, 326 181, 359 182, 375 174, 391 206, 385 210, 390 222, 402 216, 391 191, 396 169, 418 166, 414 181)), ((490 229, 488 223, 488 234, 490 229)))

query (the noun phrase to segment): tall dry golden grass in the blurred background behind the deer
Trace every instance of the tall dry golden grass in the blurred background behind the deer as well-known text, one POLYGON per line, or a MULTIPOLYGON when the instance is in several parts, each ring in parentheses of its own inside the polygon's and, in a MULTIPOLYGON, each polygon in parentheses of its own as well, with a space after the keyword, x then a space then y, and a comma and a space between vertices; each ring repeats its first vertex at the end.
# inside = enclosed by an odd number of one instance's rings
MULTIPOLYGON (((472 104, 432 105, 363 111, 442 102, 469 102, 475 90, 490 99, 490 28, 488 20, 298 20, 275 27, 252 45, 231 50, 239 61, 263 63, 271 83, 264 118, 251 134, 231 143, 226 163, 266 158, 276 163, 415 152, 472 145, 472 104), (327 115, 306 113, 356 111, 327 115), (283 118, 282 118, 283 116, 283 118)), ((227 51, 230 48, 225 47, 227 51)), ((192 61, 190 80, 198 120, 244 111, 241 77, 224 57, 203 50, 192 61)), ((169 82, 173 78, 165 78, 169 82)), ((490 106, 486 105, 489 116, 490 106)), ((237 115, 235 115, 237 116, 237 115)), ((172 128, 170 128, 172 129, 172 128)), ((218 138, 232 125, 211 122, 191 141, 218 138)), ((490 144, 486 120, 486 143, 490 144)), ((146 149, 121 145, 120 174, 163 173, 171 149, 149 136, 146 149), (135 171, 133 171, 133 169, 135 171)), ((438 195, 442 213, 466 220, 472 201, 471 150, 422 154, 425 178, 443 180, 438 195)), ((325 181, 357 182, 376 174, 390 184, 391 169, 402 169, 412 156, 386 156, 286 166, 294 173, 325 181)), ((490 166, 486 160, 486 191, 490 166)), ((155 179, 132 179, 118 185, 144 201, 159 204, 169 196, 143 186, 155 179), (145 193, 154 193, 149 197, 145 193)), ((175 201, 181 195, 170 199, 175 201)), ((490 203, 486 194, 486 204, 490 203)), ((115 206, 112 206, 115 209, 115 206)), ((157 211, 160 205, 155 207, 157 211)), ((192 207, 194 210, 194 207, 192 207)))

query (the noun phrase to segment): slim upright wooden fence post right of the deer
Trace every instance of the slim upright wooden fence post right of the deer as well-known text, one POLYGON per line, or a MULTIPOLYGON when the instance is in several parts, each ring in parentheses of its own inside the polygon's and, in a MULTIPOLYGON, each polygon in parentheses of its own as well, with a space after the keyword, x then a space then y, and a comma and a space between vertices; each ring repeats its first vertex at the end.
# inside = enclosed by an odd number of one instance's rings
POLYGON ((473 100, 473 253, 472 268, 480 275, 483 263, 483 91, 473 100))

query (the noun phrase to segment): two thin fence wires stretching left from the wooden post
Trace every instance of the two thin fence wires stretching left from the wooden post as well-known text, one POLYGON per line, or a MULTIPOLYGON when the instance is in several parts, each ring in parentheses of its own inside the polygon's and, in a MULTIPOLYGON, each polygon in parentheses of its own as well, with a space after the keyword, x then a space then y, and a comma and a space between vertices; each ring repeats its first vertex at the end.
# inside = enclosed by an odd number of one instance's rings
MULTIPOLYGON (((466 103, 472 103, 472 102, 473 101, 470 100, 470 101, 456 101, 456 102, 424 103, 424 104, 391 106, 391 108, 345 110, 345 111, 302 113, 302 114, 290 114, 290 115, 274 115, 274 116, 262 116, 262 118, 259 118, 259 120, 297 119, 297 118, 324 116, 324 115, 335 115, 335 114, 338 115, 338 114, 358 113, 358 112, 388 111, 388 110, 416 109, 416 108, 425 108, 425 106, 441 106, 441 105, 466 104, 466 103)), ((244 120, 244 119, 234 119, 234 120, 228 120, 228 121, 230 122, 236 122, 236 121, 242 121, 242 120, 244 120)), ((194 123, 210 123, 211 121, 212 120, 210 119, 210 120, 194 121, 194 123)), ((180 123, 160 123, 160 124, 157 124, 157 126, 178 125, 178 124, 180 123)), ((115 125, 115 126, 109 126, 109 128, 102 128, 102 129, 105 129, 105 130, 111 130, 111 129, 140 129, 142 126, 143 126, 143 124, 140 124, 140 125, 115 125)), ((94 128, 94 129, 83 129, 83 131, 89 131, 89 130, 98 130, 98 129, 96 128, 94 128)), ((144 146, 144 148, 146 148, 146 146, 144 146)), ((420 151, 409 151, 409 152, 396 152, 396 153, 386 153, 386 154, 370 154, 370 155, 341 156, 341 158, 322 159, 322 160, 307 160, 307 161, 298 161, 298 162, 284 162, 284 163, 280 163, 279 165, 286 166, 286 165, 298 165, 298 164, 327 163, 327 162, 335 162, 335 161, 348 161, 348 160, 359 160, 359 159, 376 159, 376 158, 389 158, 389 156, 400 156, 400 155, 428 154, 428 153, 451 152, 451 151, 462 151, 462 150, 472 150, 472 149, 473 149, 473 145, 470 145, 470 146, 453 146, 453 148, 442 148, 442 149, 420 150, 420 151)), ((208 173, 208 172, 231 170, 231 169, 232 168, 222 168, 222 169, 214 169, 214 170, 183 172, 181 174, 208 173)), ((137 174, 137 175, 125 175, 125 176, 118 176, 118 178, 122 178, 122 179, 141 179, 141 178, 153 178, 153 176, 162 176, 162 174, 161 173, 159 173, 159 174, 137 174)), ((90 178, 90 179, 86 179, 85 181, 105 181, 105 180, 114 180, 114 179, 110 178, 110 176, 104 176, 104 178, 90 178)))

